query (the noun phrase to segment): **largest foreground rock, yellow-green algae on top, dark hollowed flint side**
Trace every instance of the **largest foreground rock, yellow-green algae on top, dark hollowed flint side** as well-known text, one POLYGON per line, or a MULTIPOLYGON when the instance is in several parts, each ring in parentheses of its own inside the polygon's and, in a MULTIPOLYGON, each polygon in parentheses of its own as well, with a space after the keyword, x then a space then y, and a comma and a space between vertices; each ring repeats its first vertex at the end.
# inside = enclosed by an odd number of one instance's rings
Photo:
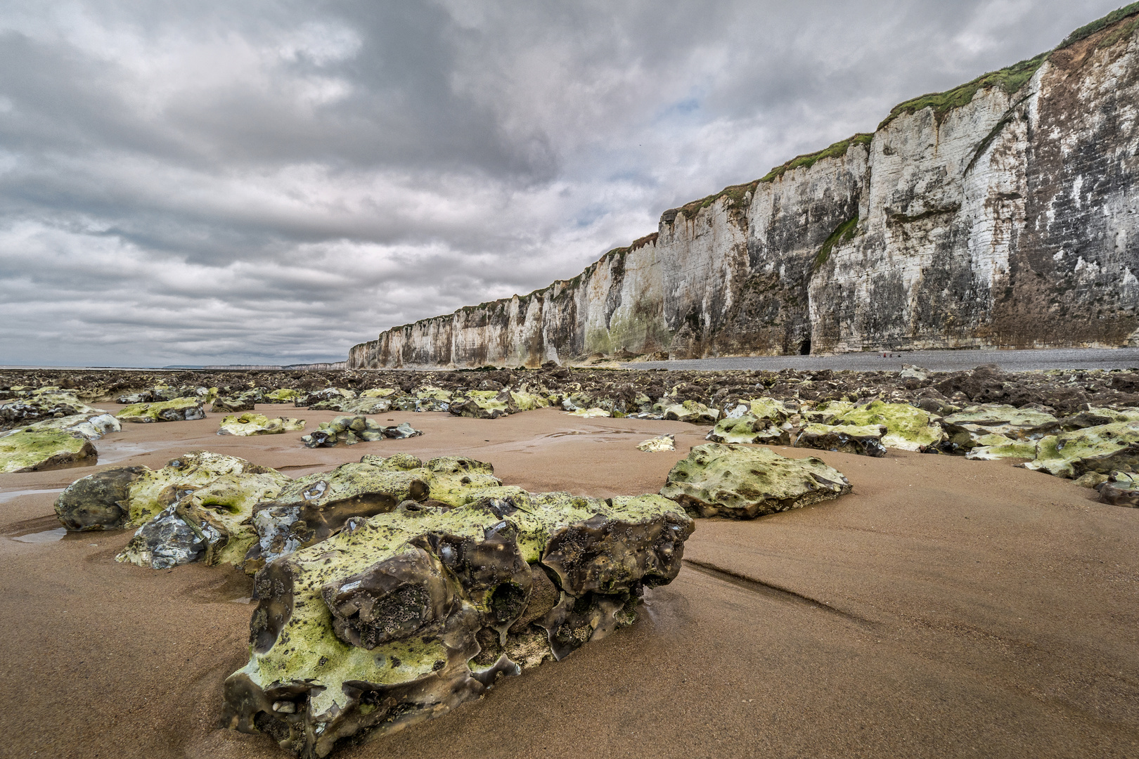
POLYGON ((632 624, 694 527, 658 496, 412 505, 257 572, 249 662, 224 686, 230 727, 318 757, 441 716, 632 624))

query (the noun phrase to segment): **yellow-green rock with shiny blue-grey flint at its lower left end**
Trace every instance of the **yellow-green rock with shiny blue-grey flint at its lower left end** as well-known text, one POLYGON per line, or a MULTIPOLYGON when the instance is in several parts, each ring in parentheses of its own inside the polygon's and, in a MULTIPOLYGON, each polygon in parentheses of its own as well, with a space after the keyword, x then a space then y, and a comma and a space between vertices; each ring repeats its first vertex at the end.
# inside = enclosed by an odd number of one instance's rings
POLYGON ((197 489, 179 489, 177 501, 142 525, 116 561, 170 569, 195 561, 240 567, 257 535, 254 505, 272 498, 289 478, 278 471, 227 473, 197 489))

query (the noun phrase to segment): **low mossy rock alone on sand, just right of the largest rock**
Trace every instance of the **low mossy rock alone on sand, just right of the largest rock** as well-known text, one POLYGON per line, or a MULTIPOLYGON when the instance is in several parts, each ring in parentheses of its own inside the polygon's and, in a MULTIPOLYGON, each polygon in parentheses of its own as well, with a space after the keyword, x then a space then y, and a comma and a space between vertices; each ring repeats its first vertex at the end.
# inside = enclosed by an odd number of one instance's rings
POLYGON ((677 462, 661 495, 700 517, 754 519, 851 492, 820 459, 787 459, 770 448, 706 443, 677 462))

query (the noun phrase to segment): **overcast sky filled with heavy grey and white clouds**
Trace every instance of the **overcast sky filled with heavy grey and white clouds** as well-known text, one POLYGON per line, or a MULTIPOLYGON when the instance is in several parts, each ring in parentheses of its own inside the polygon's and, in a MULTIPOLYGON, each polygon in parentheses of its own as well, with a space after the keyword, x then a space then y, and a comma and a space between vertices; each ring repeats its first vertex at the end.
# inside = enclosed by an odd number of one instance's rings
POLYGON ((0 6, 0 364, 343 360, 1121 0, 0 6))

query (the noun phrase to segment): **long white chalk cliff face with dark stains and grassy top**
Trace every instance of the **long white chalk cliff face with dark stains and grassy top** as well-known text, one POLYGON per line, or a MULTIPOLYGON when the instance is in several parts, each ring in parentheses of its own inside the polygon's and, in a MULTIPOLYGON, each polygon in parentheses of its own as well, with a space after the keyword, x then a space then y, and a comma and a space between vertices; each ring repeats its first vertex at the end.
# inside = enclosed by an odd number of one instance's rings
POLYGON ((350 366, 1134 345, 1139 8, 1126 13, 667 211, 572 280, 390 329, 350 366))

